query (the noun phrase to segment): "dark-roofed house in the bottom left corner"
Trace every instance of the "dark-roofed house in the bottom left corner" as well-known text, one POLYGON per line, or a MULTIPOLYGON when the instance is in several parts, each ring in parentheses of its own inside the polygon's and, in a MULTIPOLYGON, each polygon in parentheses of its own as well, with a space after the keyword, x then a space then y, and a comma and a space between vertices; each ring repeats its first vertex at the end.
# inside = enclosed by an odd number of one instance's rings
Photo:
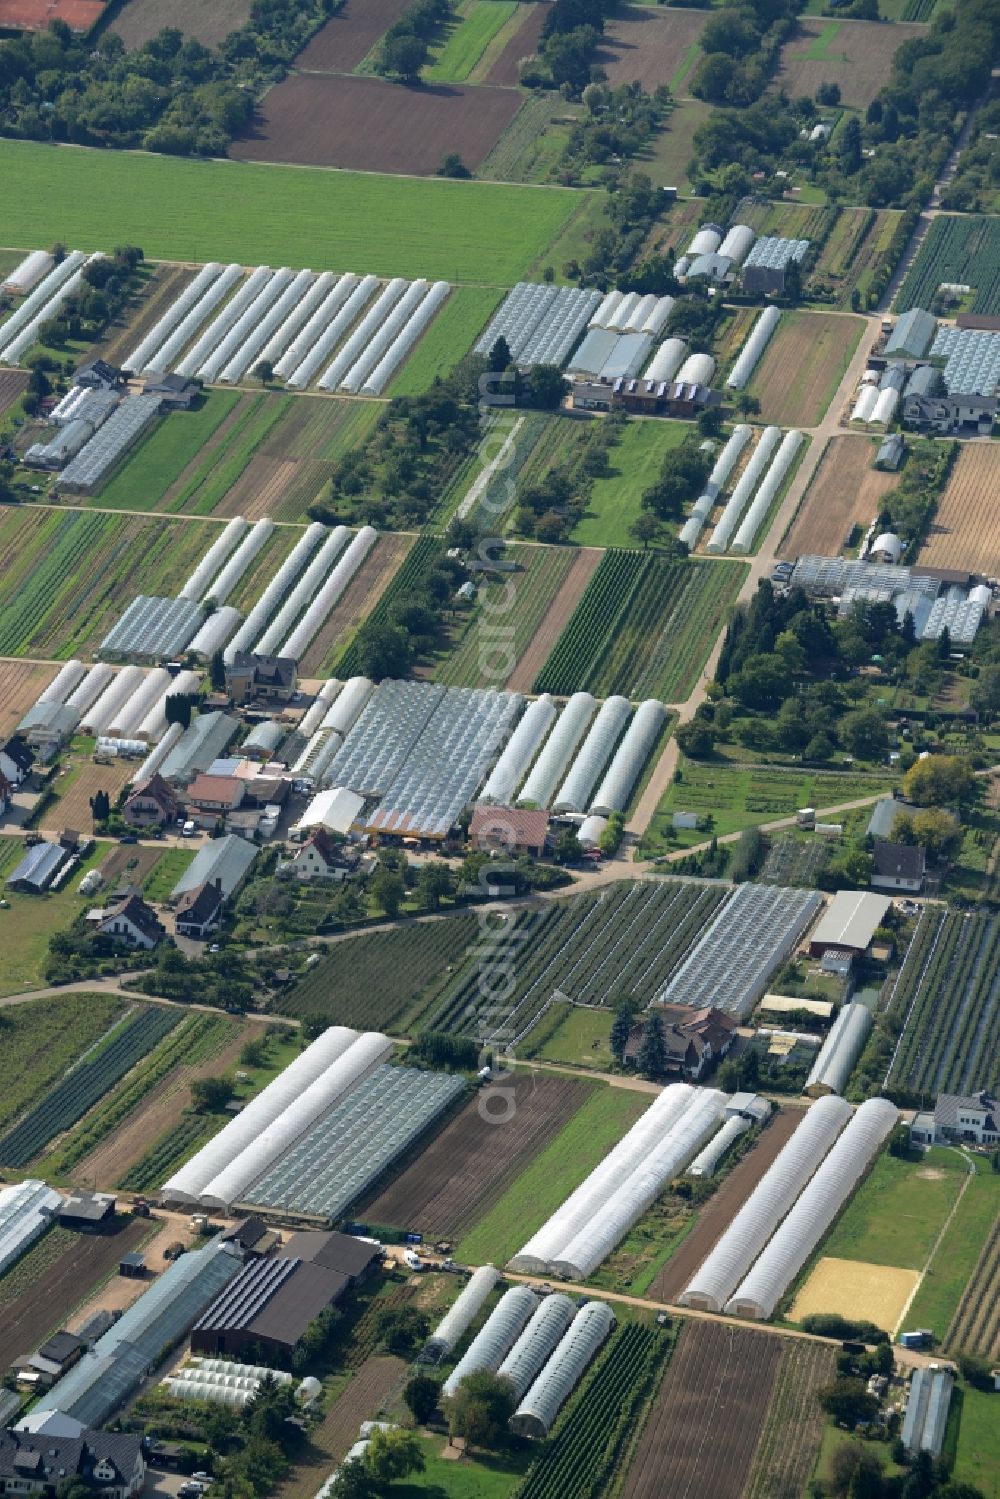
POLYGON ((145 1483, 141 1438, 90 1429, 79 1436, 0 1432, 0 1493, 48 1499, 66 1480, 103 1499, 133 1499, 145 1483))

